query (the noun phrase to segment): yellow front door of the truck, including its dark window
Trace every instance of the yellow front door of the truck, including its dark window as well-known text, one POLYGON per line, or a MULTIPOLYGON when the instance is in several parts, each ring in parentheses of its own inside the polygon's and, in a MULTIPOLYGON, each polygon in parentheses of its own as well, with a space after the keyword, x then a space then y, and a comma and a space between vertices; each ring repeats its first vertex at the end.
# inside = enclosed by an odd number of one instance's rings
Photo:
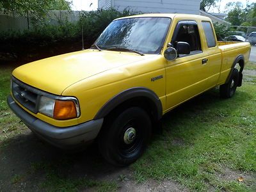
POLYGON ((177 49, 177 42, 187 42, 190 54, 180 54, 176 60, 167 61, 166 65, 166 109, 172 109, 181 102, 204 92, 209 88, 209 65, 206 54, 202 51, 198 24, 192 20, 177 23, 172 36, 172 46, 177 49))

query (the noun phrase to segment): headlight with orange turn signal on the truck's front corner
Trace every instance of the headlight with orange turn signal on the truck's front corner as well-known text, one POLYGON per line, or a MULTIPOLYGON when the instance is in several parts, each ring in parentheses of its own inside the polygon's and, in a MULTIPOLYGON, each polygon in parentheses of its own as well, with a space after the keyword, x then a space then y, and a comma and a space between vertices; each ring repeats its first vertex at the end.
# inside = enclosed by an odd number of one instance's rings
POLYGON ((58 120, 76 118, 80 115, 78 102, 74 97, 52 99, 42 96, 38 111, 58 120))

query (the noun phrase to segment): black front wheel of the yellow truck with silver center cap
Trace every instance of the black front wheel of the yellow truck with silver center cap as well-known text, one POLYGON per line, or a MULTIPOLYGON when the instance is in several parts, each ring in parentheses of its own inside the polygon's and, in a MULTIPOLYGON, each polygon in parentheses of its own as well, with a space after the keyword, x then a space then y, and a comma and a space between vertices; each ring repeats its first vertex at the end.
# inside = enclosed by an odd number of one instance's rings
POLYGON ((152 123, 148 113, 132 107, 107 121, 99 134, 100 154, 115 166, 125 166, 136 161, 150 140, 152 123))

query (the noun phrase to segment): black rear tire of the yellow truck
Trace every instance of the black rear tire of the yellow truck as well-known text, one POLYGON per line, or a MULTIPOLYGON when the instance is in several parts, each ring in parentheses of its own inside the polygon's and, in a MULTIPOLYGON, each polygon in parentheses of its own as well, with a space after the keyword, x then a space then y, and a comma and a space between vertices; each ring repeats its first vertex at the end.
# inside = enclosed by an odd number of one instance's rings
POLYGON ((239 81, 239 72, 237 68, 234 68, 229 81, 225 84, 221 84, 220 86, 220 97, 222 98, 232 97, 236 92, 238 81, 239 81))

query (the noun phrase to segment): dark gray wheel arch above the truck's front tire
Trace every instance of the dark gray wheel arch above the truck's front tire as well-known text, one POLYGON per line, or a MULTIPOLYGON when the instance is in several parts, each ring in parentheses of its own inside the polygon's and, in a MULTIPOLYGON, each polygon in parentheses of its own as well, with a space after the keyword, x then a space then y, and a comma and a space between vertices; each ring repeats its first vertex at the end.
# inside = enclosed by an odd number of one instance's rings
MULTIPOLYGON (((94 119, 104 118, 112 111, 127 106, 142 106, 150 110, 149 114, 154 120, 160 120, 163 115, 161 100, 152 90, 145 87, 135 87, 118 93, 112 97, 95 115, 94 119)), ((148 111, 147 111, 148 112, 148 111)))

